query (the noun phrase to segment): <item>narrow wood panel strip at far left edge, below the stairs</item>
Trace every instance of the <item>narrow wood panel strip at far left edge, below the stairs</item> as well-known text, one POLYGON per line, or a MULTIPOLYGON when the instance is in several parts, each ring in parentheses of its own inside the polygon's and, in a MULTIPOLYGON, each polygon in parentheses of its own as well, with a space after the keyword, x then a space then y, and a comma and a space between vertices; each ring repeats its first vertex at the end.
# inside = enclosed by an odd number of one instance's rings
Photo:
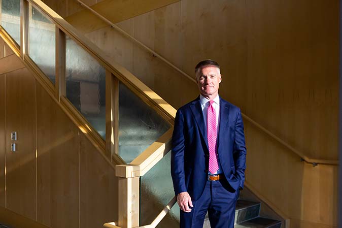
POLYGON ((5 105, 5 75, 0 75, 0 207, 5 207, 5 105))

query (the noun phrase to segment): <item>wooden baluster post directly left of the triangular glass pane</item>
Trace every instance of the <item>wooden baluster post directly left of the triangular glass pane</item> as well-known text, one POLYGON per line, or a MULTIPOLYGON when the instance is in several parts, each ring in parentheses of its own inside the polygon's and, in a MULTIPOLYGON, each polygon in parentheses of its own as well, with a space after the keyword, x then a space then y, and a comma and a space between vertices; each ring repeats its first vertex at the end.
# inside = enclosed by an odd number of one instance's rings
POLYGON ((119 80, 106 70, 106 151, 119 153, 119 80))

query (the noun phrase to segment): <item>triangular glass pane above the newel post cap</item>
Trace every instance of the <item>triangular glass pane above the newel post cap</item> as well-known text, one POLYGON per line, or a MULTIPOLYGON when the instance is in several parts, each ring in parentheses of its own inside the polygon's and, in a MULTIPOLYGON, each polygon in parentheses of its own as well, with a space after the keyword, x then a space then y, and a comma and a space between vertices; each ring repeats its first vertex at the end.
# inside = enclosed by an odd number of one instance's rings
POLYGON ((124 84, 119 85, 119 155, 131 162, 162 136, 169 124, 124 84))

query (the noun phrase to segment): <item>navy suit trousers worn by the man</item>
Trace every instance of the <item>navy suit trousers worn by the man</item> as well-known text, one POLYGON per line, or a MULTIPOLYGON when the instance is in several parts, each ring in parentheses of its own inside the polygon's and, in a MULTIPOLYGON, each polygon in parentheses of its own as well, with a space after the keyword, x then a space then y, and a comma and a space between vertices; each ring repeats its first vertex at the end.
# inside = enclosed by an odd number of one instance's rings
POLYGON ((208 211, 211 228, 233 228, 239 194, 225 179, 207 181, 201 197, 192 202, 191 212, 181 211, 180 227, 202 228, 208 211))

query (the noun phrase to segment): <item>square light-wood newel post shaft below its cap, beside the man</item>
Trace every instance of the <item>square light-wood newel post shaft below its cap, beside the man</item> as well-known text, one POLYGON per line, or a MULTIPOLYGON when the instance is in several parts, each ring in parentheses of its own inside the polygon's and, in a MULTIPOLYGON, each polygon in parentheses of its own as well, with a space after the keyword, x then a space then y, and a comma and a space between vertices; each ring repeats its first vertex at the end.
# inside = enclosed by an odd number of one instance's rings
POLYGON ((119 177, 119 226, 139 226, 139 177, 119 177))

